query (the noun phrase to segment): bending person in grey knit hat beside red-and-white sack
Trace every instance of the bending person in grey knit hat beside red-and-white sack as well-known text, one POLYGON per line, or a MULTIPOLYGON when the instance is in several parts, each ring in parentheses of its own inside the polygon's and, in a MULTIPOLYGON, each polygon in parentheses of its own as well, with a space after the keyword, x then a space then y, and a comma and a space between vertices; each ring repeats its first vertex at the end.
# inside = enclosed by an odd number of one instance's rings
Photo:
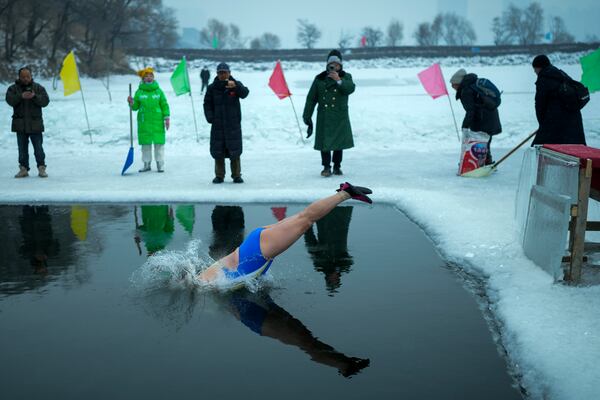
POLYGON ((490 109, 483 105, 481 95, 474 88, 476 82, 477 75, 467 74, 467 71, 462 68, 450 78, 452 88, 456 90, 456 100, 460 100, 466 113, 462 128, 490 135, 485 160, 485 164, 488 165, 492 163, 492 152, 490 150, 492 137, 502 132, 502 125, 500 124, 498 109, 490 109))

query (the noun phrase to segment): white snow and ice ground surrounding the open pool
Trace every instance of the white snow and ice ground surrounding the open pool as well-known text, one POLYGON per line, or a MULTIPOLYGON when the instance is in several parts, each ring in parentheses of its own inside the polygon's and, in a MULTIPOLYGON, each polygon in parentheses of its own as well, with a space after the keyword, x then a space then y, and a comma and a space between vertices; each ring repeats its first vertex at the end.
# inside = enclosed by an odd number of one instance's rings
MULTIPOLYGON (((581 71, 573 60, 561 58, 558 66, 579 78, 581 71)), ((407 213, 446 260, 483 278, 509 361, 531 398, 600 398, 600 286, 554 284, 523 255, 513 222, 522 151, 487 179, 456 176, 459 145, 448 100, 423 95, 416 75, 425 64, 346 64, 357 84, 350 100, 356 147, 344 154, 343 179, 373 188, 376 202, 395 204, 407 213)), ((492 146, 496 158, 537 127, 531 67, 503 64, 465 65, 504 91, 504 133, 492 146)), ((448 79, 458 62, 444 65, 451 65, 444 68, 448 79)), ((5 105, 0 112, 0 203, 282 203, 309 202, 332 193, 341 180, 319 176, 319 153, 312 143, 300 141, 290 101, 277 99, 267 86, 270 69, 231 66, 233 75, 250 89, 242 101, 245 184, 234 185, 229 179, 223 185, 211 183, 209 125, 202 115, 198 70, 192 72, 192 87, 199 141, 189 96, 175 97, 170 74, 160 73, 158 81, 172 110, 166 172, 135 172, 141 158, 136 146, 136 163, 124 177, 120 171, 129 149, 125 98, 127 83, 135 87, 137 78, 115 77, 112 102, 99 81, 83 80, 93 144, 82 134, 87 128, 79 94, 65 98, 61 88, 52 91, 51 82, 42 80, 51 96, 44 135, 50 177, 13 178, 17 145, 9 132, 11 110, 5 105)), ((286 72, 299 114, 308 86, 321 69, 322 65, 303 63, 286 72)), ((452 102, 460 124, 464 113, 452 102)), ((588 144, 600 147, 599 94, 592 95, 583 114, 588 144)), ((33 154, 30 157, 35 165, 33 154)), ((401 256, 401 243, 398 249, 401 256)))

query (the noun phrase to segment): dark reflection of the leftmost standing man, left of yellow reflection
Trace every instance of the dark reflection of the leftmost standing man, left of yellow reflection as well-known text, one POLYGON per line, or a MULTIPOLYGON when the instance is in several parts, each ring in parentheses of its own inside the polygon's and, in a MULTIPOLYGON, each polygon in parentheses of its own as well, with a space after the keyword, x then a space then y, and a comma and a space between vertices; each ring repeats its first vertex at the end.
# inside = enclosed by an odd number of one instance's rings
POLYGON ((58 254, 58 241, 52 233, 52 218, 48 206, 23 206, 19 218, 23 244, 19 249, 28 258, 36 274, 48 273, 48 257, 58 254))

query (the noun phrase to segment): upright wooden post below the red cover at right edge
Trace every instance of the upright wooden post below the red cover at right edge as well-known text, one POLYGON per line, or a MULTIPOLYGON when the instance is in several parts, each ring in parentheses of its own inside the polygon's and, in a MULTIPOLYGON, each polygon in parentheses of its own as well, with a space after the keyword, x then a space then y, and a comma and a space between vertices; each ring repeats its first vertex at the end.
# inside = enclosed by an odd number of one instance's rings
POLYGON ((565 278, 571 284, 578 284, 581 280, 583 266, 583 248, 585 244, 585 230, 587 227, 588 202, 590 186, 592 183, 592 160, 586 159, 585 167, 579 169, 579 189, 577 199, 577 215, 574 217, 573 247, 571 249, 571 262, 565 278))

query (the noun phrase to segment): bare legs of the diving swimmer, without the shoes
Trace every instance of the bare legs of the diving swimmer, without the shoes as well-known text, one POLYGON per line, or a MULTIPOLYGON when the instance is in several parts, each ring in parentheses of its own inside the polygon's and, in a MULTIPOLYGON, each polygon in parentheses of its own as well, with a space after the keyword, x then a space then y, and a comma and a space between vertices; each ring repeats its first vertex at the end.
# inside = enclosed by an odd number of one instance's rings
POLYGON ((271 259, 287 250, 317 222, 350 195, 344 191, 317 200, 298 214, 271 225, 260 234, 260 250, 263 257, 271 259))

